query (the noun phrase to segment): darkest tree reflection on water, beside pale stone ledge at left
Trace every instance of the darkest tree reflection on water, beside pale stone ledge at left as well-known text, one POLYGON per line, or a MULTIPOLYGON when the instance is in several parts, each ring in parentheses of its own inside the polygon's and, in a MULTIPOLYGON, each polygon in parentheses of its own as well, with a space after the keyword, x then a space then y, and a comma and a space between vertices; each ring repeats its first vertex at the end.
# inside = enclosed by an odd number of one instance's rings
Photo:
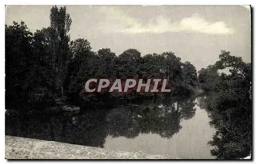
POLYGON ((105 112, 80 115, 6 117, 6 135, 103 148, 107 134, 105 112))

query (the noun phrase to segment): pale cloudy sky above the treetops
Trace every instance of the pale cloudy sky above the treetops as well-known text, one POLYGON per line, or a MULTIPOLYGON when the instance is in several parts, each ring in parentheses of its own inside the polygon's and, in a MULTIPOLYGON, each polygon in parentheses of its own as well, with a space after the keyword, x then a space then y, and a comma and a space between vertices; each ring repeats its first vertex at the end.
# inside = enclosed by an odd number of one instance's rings
MULTIPOLYGON (((58 6, 59 7, 59 6, 58 6)), ((31 32, 50 25, 52 6, 7 6, 6 24, 24 21, 31 32)), ((219 60, 221 50, 251 62, 251 17, 244 6, 66 6, 71 40, 87 39, 92 50, 118 56, 136 48, 173 51, 197 70, 219 60)))

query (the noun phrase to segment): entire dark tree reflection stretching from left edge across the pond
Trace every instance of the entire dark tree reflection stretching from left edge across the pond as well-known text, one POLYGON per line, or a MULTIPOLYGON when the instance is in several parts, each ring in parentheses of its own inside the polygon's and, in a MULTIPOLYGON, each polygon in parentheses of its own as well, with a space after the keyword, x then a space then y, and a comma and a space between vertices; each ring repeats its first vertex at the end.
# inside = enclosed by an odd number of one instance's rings
POLYGON ((101 148, 108 135, 155 133, 170 139, 182 128, 182 119, 195 116, 194 100, 159 98, 115 108, 81 108, 76 115, 6 115, 6 135, 101 148))

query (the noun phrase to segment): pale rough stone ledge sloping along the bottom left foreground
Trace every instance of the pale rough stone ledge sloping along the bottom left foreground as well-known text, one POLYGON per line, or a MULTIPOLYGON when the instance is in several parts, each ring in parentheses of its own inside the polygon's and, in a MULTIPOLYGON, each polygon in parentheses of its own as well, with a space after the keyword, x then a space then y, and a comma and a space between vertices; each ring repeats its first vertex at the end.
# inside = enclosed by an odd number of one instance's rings
POLYGON ((5 136, 7 159, 174 159, 168 155, 123 152, 102 148, 5 136))

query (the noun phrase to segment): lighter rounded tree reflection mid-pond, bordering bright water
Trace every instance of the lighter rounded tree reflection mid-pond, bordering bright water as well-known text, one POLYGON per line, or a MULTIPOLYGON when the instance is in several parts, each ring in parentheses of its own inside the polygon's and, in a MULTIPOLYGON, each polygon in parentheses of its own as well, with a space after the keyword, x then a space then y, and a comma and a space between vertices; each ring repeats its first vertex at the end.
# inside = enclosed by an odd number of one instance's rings
POLYGON ((195 99, 165 98, 140 105, 127 104, 116 107, 106 116, 108 134, 113 138, 135 138, 140 133, 156 133, 162 138, 170 139, 182 128, 182 119, 188 120, 195 116, 195 99))

